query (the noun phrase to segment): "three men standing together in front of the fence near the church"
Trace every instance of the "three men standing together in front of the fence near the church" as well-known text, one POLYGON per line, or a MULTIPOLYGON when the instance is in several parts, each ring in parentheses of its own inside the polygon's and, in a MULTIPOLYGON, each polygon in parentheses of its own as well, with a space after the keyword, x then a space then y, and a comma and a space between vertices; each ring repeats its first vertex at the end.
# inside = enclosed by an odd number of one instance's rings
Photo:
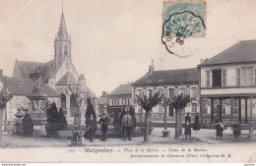
MULTIPOLYGON (((132 134, 132 127, 133 127, 133 118, 131 115, 129 115, 128 108, 125 110, 125 115, 122 117, 121 127, 123 129, 123 139, 126 140, 128 138, 129 140, 132 140, 131 134, 132 134)), ((90 141, 94 141, 95 133, 96 133, 96 124, 100 124, 100 130, 101 130, 101 141, 106 140, 106 135, 108 131, 108 124, 110 122, 110 119, 108 117, 108 114, 103 113, 102 117, 99 119, 98 122, 96 122, 96 115, 91 114, 90 118, 86 119, 86 133, 84 135, 85 139, 89 138, 90 141)))

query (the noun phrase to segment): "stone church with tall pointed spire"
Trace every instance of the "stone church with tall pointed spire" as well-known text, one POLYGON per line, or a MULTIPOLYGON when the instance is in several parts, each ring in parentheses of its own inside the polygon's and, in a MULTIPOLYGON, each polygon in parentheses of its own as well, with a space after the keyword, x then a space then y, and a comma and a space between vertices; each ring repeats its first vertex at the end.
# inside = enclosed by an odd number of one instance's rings
POLYGON ((12 79, 33 80, 34 72, 40 71, 42 82, 55 90, 59 97, 55 97, 58 108, 66 113, 67 120, 73 120, 73 109, 70 104, 71 91, 69 87, 80 86, 85 100, 82 101, 82 122, 86 111, 86 98, 96 98, 96 94, 87 86, 84 74, 79 74, 72 63, 71 37, 67 31, 64 13, 62 11, 60 25, 54 39, 54 59, 46 62, 29 62, 16 59, 12 79))

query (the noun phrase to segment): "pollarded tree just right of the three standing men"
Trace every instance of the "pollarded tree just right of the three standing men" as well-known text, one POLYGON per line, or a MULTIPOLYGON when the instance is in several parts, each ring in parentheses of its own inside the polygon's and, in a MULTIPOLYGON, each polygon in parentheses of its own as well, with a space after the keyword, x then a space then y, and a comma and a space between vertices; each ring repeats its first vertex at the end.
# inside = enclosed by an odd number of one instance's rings
POLYGON ((150 136, 150 111, 153 107, 158 105, 162 100, 163 94, 160 95, 160 92, 156 92, 154 96, 147 97, 146 95, 136 95, 135 102, 137 102, 143 109, 146 111, 146 130, 144 136, 144 142, 149 141, 150 136))

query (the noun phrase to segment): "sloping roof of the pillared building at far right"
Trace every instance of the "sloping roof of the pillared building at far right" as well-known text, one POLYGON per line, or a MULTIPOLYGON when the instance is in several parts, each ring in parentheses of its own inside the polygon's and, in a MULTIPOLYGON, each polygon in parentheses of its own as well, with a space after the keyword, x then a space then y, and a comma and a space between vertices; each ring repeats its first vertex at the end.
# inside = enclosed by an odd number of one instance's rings
POLYGON ((256 40, 239 41, 198 66, 256 62, 256 40))

